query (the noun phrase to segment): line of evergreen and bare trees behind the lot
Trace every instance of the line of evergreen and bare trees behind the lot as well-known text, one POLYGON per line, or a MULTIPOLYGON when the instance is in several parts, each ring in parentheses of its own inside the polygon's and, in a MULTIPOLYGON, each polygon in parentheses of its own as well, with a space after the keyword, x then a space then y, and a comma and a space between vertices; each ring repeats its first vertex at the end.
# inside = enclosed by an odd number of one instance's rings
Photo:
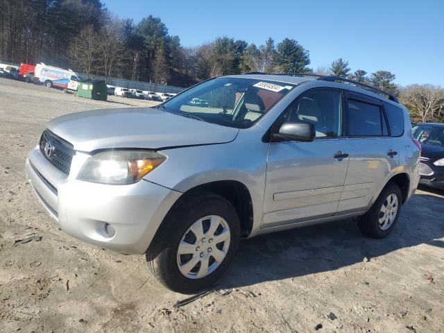
POLYGON ((182 87, 251 71, 334 75, 399 96, 414 121, 444 121, 441 87, 400 87, 390 71, 351 71, 343 58, 313 69, 309 51, 289 38, 275 42, 270 37, 257 46, 217 37, 200 46, 182 46, 160 18, 119 19, 100 0, 0 0, 0 60, 45 62, 87 75, 182 87))

